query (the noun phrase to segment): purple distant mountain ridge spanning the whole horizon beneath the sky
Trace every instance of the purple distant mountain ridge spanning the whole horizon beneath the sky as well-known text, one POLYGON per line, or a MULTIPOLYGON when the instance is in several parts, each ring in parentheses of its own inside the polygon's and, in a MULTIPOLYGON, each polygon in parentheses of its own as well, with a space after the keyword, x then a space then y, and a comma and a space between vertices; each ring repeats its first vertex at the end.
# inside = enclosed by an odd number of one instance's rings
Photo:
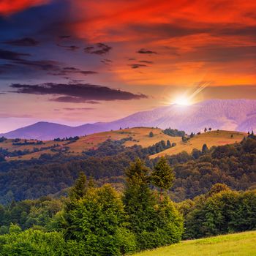
POLYGON ((191 106, 169 105, 141 111, 111 122, 98 122, 70 127, 62 124, 38 122, 28 127, 1 134, 6 138, 35 138, 51 140, 70 136, 89 135, 120 127, 167 127, 186 132, 212 129, 251 131, 256 128, 256 100, 210 99, 191 106))

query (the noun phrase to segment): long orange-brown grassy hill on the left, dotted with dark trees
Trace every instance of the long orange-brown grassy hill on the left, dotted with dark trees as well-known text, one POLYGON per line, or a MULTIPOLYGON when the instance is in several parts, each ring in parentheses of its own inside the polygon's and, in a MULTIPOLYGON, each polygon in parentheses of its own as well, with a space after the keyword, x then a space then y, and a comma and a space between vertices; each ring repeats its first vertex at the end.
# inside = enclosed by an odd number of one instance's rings
POLYGON ((152 146, 161 140, 167 142, 171 140, 174 143, 179 143, 181 141, 180 137, 170 137, 162 132, 162 129, 138 127, 131 129, 121 129, 110 132, 99 132, 92 135, 81 136, 78 140, 64 140, 64 141, 54 141, 54 140, 44 140, 42 144, 37 144, 37 140, 27 140, 27 145, 24 143, 25 140, 20 140, 19 143, 22 145, 16 145, 12 139, 4 140, 0 143, 0 148, 7 149, 10 152, 13 151, 24 151, 27 150, 28 153, 20 155, 19 157, 10 157, 12 159, 31 159, 38 158, 41 154, 58 154, 60 151, 66 155, 80 155, 83 151, 88 151, 90 149, 98 148, 100 143, 106 140, 121 140, 131 138, 124 142, 124 146, 134 146, 140 145, 143 148, 152 146), (153 132, 154 136, 149 137, 149 132, 153 132), (31 143, 31 144, 29 144, 31 143), (36 143, 36 144, 34 144, 36 143), (34 151, 37 148, 38 151, 34 151))

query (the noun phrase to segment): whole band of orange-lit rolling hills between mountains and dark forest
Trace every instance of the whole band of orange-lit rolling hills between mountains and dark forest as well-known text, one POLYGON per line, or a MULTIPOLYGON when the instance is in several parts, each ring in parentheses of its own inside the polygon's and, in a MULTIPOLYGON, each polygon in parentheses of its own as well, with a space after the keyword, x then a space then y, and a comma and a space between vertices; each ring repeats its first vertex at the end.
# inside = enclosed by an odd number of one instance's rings
POLYGON ((172 146, 150 156, 151 158, 155 158, 163 155, 170 156, 178 154, 182 151, 187 151, 187 153, 190 154, 193 148, 201 150, 205 143, 208 148, 211 148, 211 146, 232 144, 240 142, 245 136, 246 133, 244 132, 219 130, 203 132, 200 135, 195 135, 195 137, 184 142, 181 140, 181 137, 171 137, 166 135, 163 130, 159 128, 137 127, 80 136, 77 140, 27 140, 27 143, 25 143, 25 140, 21 139, 18 143, 15 143, 14 139, 7 139, 0 143, 0 148, 3 148, 4 150, 6 149, 9 152, 26 151, 23 155, 19 154, 18 156, 8 158, 9 160, 13 160, 38 158, 42 154, 53 155, 58 154, 59 152, 67 156, 76 156, 82 154, 83 151, 98 148, 101 143, 108 139, 127 139, 127 141, 124 142, 124 146, 127 147, 139 145, 143 148, 147 148, 159 143, 161 140, 165 141, 165 143, 169 140, 170 144, 176 144, 176 146, 172 146), (150 132, 153 132, 153 137, 149 136, 150 132))

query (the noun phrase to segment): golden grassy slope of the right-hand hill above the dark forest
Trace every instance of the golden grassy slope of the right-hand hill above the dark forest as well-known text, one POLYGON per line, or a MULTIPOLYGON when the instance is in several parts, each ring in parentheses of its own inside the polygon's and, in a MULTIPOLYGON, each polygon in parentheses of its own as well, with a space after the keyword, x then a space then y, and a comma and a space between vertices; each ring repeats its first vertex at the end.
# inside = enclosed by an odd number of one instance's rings
MULTIPOLYGON (((246 133, 244 132, 231 132, 231 131, 212 131, 205 132, 200 135, 195 135, 194 138, 191 138, 187 141, 187 143, 182 142, 181 140, 177 143, 177 145, 173 148, 168 148, 165 151, 162 151, 158 154, 154 154, 154 157, 160 157, 165 155, 178 154, 182 151, 187 151, 189 154, 192 152, 193 148, 202 149, 203 144, 206 143, 208 148, 211 146, 222 146, 225 144, 232 144, 236 142, 240 142, 246 133), (233 135, 233 138, 231 138, 233 135)), ((170 142, 172 140, 170 139, 170 142)))

